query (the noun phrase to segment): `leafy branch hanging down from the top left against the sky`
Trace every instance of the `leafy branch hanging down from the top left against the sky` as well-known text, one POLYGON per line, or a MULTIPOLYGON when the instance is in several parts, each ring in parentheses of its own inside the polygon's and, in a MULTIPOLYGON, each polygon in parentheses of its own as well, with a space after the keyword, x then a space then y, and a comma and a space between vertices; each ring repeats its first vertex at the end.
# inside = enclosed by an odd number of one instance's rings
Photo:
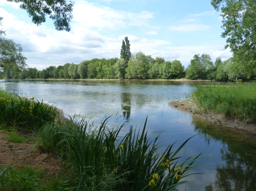
POLYGON ((54 22, 56 30, 70 31, 70 21, 73 18, 74 2, 67 0, 7 0, 20 4, 20 8, 27 11, 32 22, 40 26, 49 16, 54 22))

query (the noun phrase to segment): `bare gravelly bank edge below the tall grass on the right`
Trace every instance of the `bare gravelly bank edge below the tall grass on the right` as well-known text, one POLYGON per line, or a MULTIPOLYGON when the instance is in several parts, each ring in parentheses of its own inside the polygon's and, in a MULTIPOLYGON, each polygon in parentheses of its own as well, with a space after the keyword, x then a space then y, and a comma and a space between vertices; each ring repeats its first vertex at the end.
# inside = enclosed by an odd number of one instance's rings
POLYGON ((193 100, 173 101, 169 103, 169 106, 179 111, 194 115, 197 118, 206 119, 215 124, 221 124, 227 127, 244 130, 256 134, 256 123, 245 124, 245 122, 243 121, 230 119, 225 117, 224 115, 216 114, 213 112, 207 112, 204 114, 195 112, 195 108, 197 108, 197 106, 196 103, 193 102, 193 100))

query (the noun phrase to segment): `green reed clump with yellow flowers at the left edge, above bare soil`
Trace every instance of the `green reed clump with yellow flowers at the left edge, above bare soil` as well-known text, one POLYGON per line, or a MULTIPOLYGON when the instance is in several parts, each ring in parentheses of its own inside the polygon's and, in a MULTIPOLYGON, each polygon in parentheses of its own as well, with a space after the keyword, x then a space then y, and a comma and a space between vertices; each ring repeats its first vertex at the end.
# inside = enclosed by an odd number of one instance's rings
POLYGON ((0 88, 1 123, 34 130, 41 128, 46 122, 54 122, 58 114, 58 109, 50 103, 17 97, 0 88))

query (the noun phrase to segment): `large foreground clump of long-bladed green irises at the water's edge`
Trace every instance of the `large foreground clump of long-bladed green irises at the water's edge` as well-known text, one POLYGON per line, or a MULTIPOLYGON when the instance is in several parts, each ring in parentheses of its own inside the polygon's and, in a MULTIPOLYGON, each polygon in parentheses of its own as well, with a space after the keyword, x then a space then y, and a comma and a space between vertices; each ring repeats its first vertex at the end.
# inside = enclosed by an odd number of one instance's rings
POLYGON ((189 175, 198 157, 178 163, 177 153, 189 139, 176 151, 169 145, 158 153, 163 146, 158 141, 162 132, 148 133, 147 120, 141 130, 131 126, 129 133, 120 137, 125 124, 112 129, 106 125, 108 118, 98 127, 83 119, 70 119, 67 124, 47 124, 40 134, 46 151, 58 153, 74 164, 79 190, 172 190, 186 183, 176 176, 189 175), (154 134, 156 138, 151 139, 154 134), (159 177, 153 178, 154 173, 159 177), (155 185, 150 186, 152 179, 155 185))

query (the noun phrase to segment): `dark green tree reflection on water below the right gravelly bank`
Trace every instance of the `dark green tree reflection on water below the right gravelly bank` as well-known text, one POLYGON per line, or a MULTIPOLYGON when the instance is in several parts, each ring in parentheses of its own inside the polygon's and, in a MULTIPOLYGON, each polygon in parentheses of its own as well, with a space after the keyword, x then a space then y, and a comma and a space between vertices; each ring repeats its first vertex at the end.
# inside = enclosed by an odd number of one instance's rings
POLYGON ((192 117, 195 131, 207 144, 220 142, 222 164, 218 164, 214 183, 205 191, 256 190, 256 135, 192 117))

